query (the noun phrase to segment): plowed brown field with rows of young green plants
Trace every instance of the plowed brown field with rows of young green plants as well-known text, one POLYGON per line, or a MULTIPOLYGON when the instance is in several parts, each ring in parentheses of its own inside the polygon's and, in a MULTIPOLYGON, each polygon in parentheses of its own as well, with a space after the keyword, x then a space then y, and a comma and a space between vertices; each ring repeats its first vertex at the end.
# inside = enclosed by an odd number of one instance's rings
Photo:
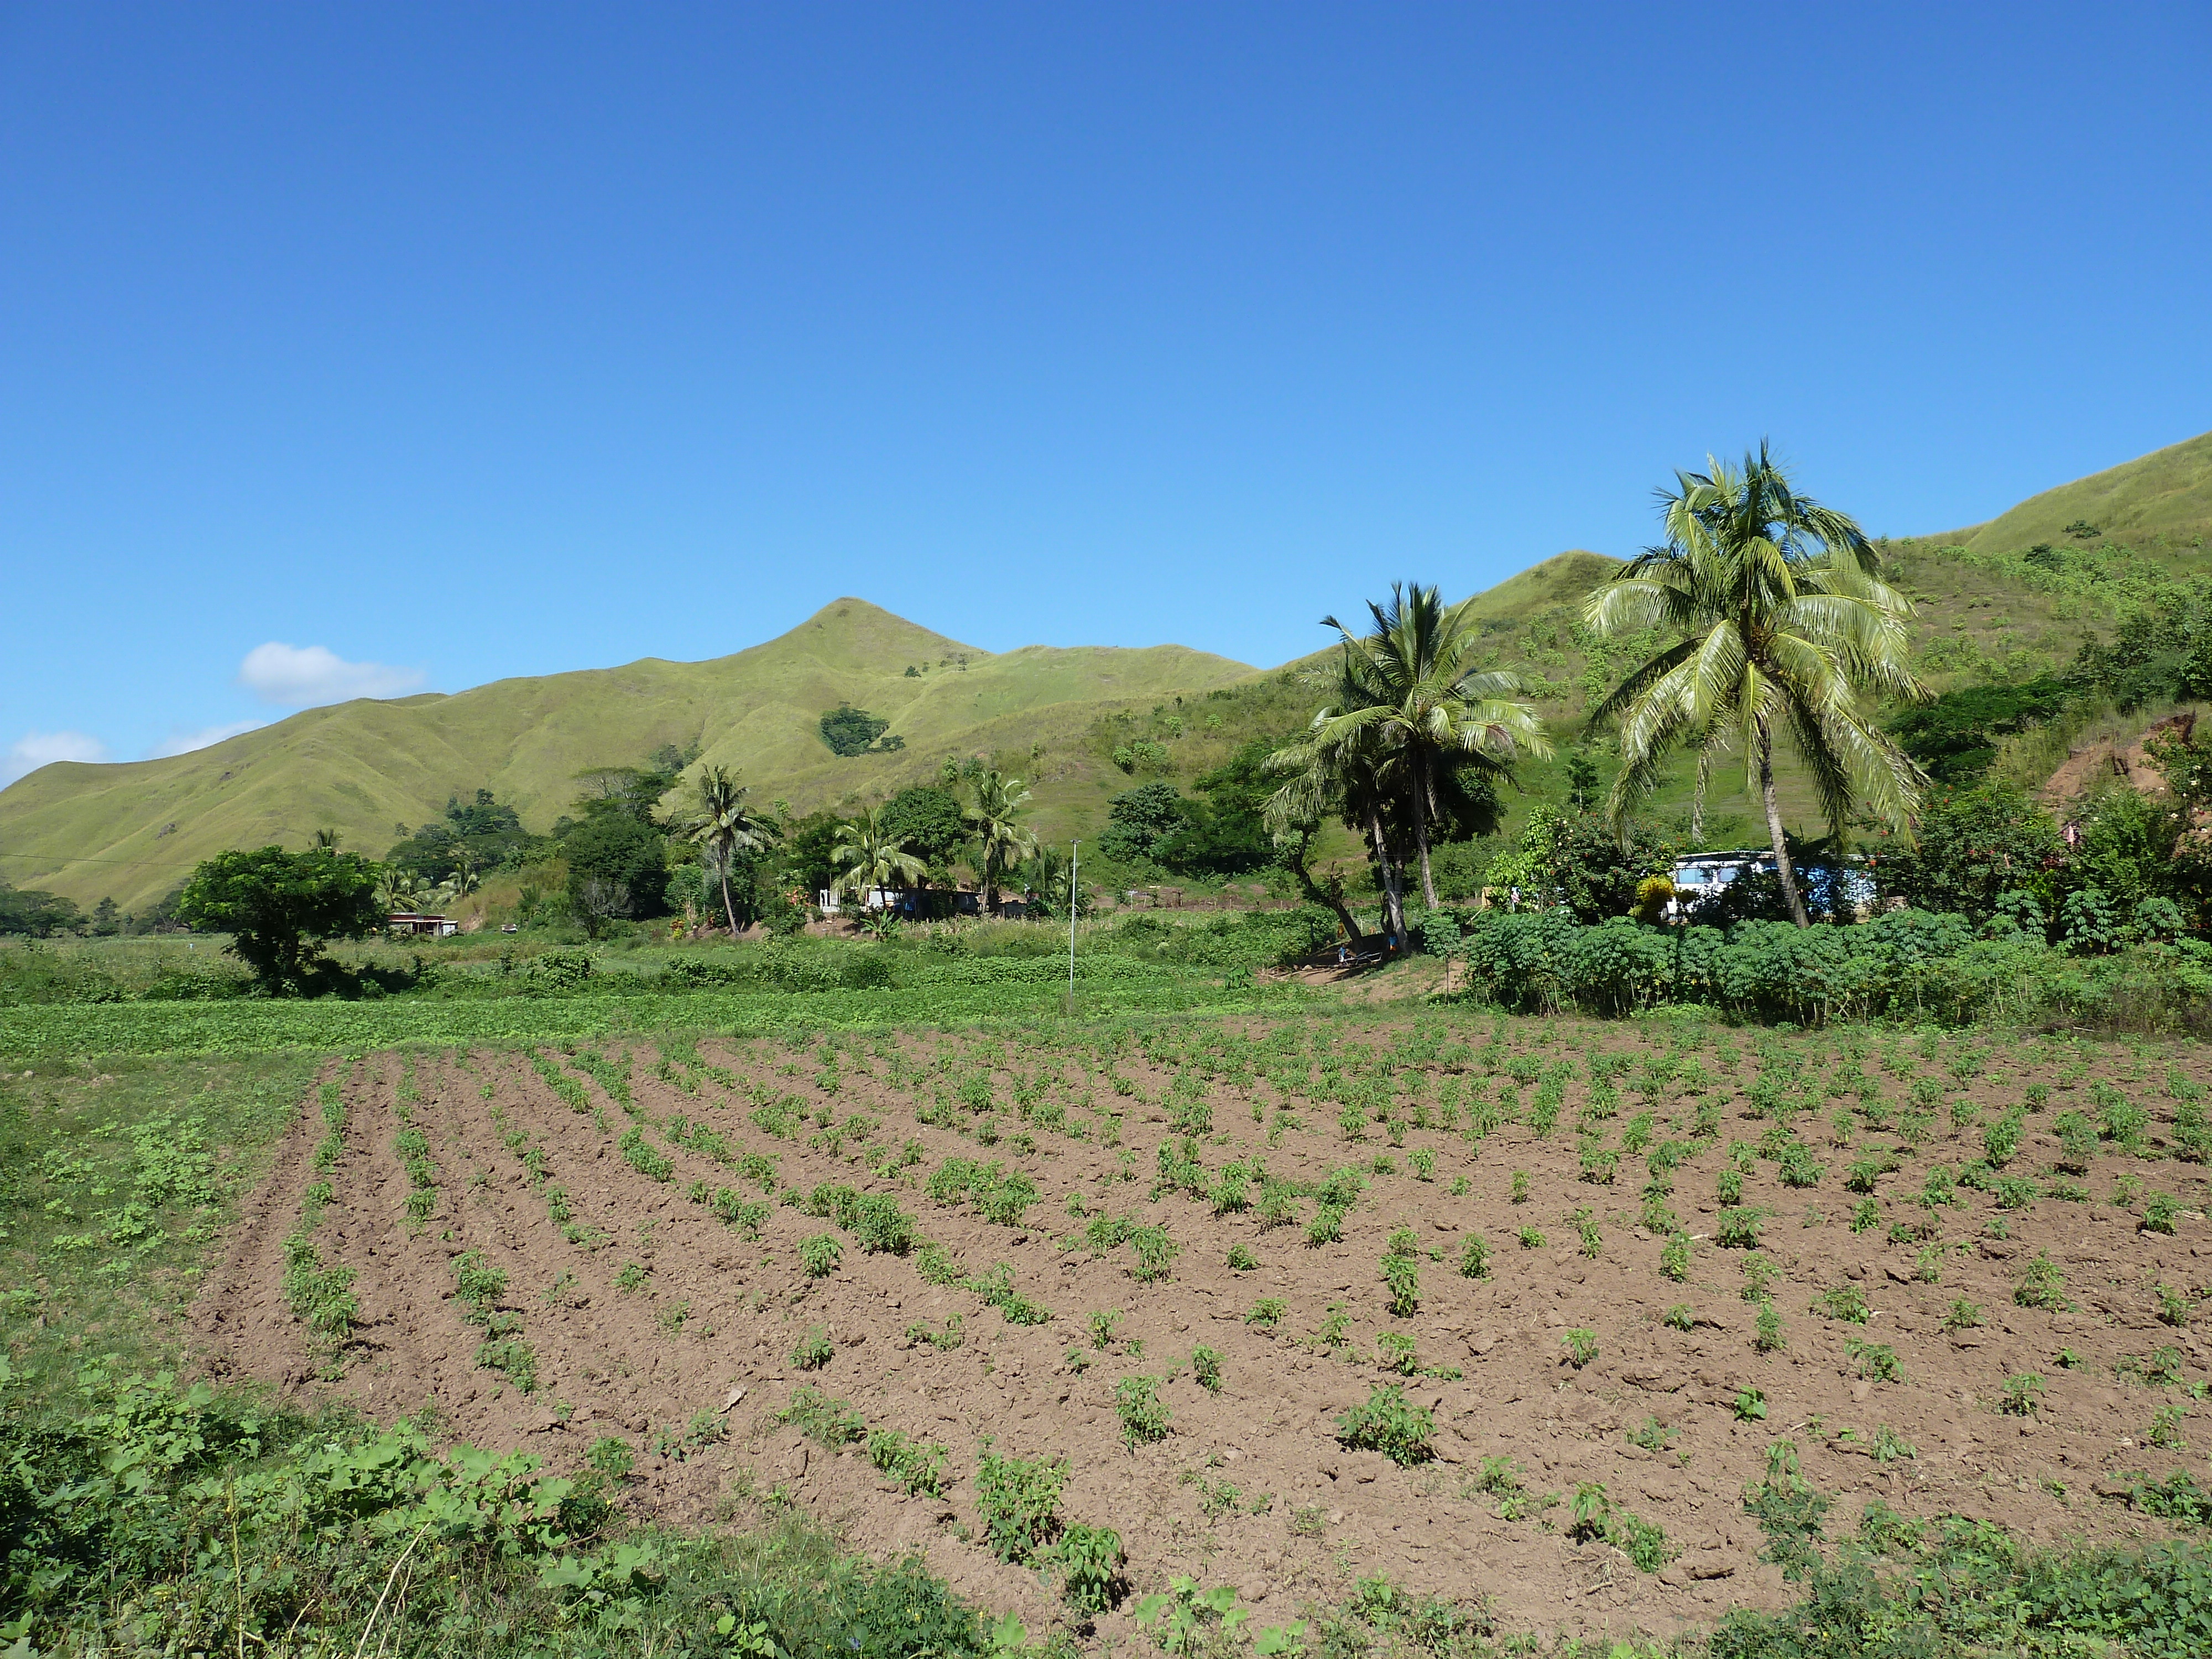
POLYGON ((619 1440, 637 1513, 807 1506, 1031 1628, 1060 1599, 984 1542, 987 1444, 1064 1458, 1060 1517, 1137 1590, 1281 1621, 1387 1575, 1672 1630, 1787 1599, 1743 1493, 1790 1455, 1832 1533, 1869 1500, 2163 1531, 2115 1482, 2212 1444, 2203 1082, 2194 1048, 1433 1013, 374 1053, 199 1321, 476 1444, 619 1440), (285 1243, 316 1181, 299 1237, 356 1303, 321 1336, 285 1243), (1128 1444, 1126 1378, 1164 1438, 1128 1444), (942 1493, 781 1422, 803 1387, 942 1447, 942 1493), (1376 1387, 1433 1458, 1340 1442, 1376 1387))

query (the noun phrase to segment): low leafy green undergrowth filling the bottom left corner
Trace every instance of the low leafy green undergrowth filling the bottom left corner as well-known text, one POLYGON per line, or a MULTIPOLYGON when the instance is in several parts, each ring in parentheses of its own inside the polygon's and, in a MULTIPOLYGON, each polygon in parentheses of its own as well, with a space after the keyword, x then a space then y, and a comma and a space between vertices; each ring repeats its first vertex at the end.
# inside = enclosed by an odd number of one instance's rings
POLYGON ((916 1562, 876 1568, 803 1524, 633 1531, 606 1482, 104 1365, 73 1413, 46 1416, 0 1360, 0 1621, 22 1652, 493 1655, 524 1632, 529 1652, 577 1659, 989 1650, 916 1562), (380 1595, 403 1564, 409 1593, 380 1595))

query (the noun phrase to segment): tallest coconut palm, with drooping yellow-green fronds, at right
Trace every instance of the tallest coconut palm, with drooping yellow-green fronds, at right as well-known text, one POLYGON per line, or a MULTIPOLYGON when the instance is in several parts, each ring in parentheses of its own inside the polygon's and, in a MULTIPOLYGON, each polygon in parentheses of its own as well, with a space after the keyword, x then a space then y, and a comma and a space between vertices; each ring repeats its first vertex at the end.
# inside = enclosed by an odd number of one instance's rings
POLYGON ((1763 442, 1743 467, 1708 465, 1710 473, 1674 473, 1677 489, 1659 491, 1666 546, 1624 564, 1584 606, 1606 635, 1674 635, 1590 710, 1593 723, 1621 721, 1621 772, 1606 814, 1626 823, 1674 745, 1688 743, 1701 832, 1712 763, 1741 748, 1783 898, 1807 927, 1774 794, 1774 732, 1787 728, 1829 834, 1840 836, 1858 812, 1907 827, 1927 774, 1874 723, 1869 703, 1929 697, 1905 666, 1913 608, 1880 582, 1865 531, 1798 495, 1763 442))

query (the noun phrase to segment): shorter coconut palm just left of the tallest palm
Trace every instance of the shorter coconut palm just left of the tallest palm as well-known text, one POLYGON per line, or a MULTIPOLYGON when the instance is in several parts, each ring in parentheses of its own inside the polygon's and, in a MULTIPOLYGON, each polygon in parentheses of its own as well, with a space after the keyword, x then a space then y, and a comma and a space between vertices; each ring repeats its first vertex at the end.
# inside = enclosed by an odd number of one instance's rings
POLYGON ((1336 703, 1314 714, 1314 741, 1369 743, 1378 761, 1402 761, 1389 770, 1411 821, 1429 909, 1436 909, 1429 825, 1444 814, 1444 776, 1460 768, 1502 776, 1522 754, 1551 754, 1535 708, 1511 701, 1520 679, 1473 666, 1467 606, 1467 599, 1447 606, 1436 588, 1407 591, 1394 582, 1389 604, 1367 604, 1371 633, 1354 635, 1336 617, 1321 619, 1336 628, 1345 659, 1336 703))

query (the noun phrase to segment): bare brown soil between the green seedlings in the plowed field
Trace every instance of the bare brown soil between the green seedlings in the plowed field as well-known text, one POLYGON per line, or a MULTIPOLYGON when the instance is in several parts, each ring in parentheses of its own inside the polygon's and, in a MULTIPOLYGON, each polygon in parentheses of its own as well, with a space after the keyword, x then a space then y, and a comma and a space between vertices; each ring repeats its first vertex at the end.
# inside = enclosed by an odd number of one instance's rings
MULTIPOLYGON (((1756 1559, 1763 1540, 1741 1502, 1781 1438, 1801 1447, 1805 1478, 1836 1495, 1834 1533, 1880 1498, 1911 1515, 1989 1517, 2046 1542, 2139 1535, 2143 1520, 2099 1502, 2097 1482, 2124 1469, 2166 1473, 2181 1462, 2141 1442, 2152 1413, 2170 1402, 2185 1407, 2188 1396, 2130 1380, 2130 1360, 2170 1347, 2188 1380, 2208 1376, 2197 1336, 2161 1325, 2154 1296, 2157 1283, 2208 1290, 2203 1177, 2101 1146, 2081 1181, 2090 1201, 2064 1201, 2048 1197, 2048 1170, 2057 1155, 2053 1119, 2073 1108, 2095 1113, 2090 1091, 2099 1082, 2150 1110, 2154 1152, 2174 1110, 2166 1066, 2174 1062, 2201 1084, 2201 1051, 2035 1042, 1989 1053, 1986 1071, 1964 1086, 1927 1057, 1949 1064, 1969 1046, 1964 1035, 1893 1055, 1887 1064, 1902 1075, 1869 1051, 1865 1077, 1891 1113, 1909 1104, 1922 1077, 1942 1077, 1944 1097, 1969 1097, 1984 1121, 2020 1106, 2028 1084, 2051 1086, 2051 1104, 2026 1117, 2006 1170, 2031 1175, 2046 1197, 2004 1214, 2011 1237, 1991 1237, 2000 1217, 1993 1197, 1960 1190, 1958 1208, 1933 1212, 1949 1250, 1929 1256, 1938 1283, 1927 1283, 1922 1245, 1887 1243, 1885 1228, 1927 1214, 1916 1203, 1927 1170, 1955 1170, 1975 1157, 1980 1124, 1955 1130, 1938 1108, 1927 1144, 1902 1148, 1902 1168, 1880 1181, 1882 1225, 1854 1234, 1845 1225, 1856 1203, 1845 1190, 1847 1164, 1869 1146, 1902 1144, 1893 1130, 1860 1121, 1834 1130, 1854 1141, 1849 1150, 1832 1146, 1829 1115, 1847 1102, 1820 1102, 1798 1117, 1798 1135, 1825 1164, 1818 1186, 1787 1188, 1774 1161, 1750 1159, 1743 1201, 1767 1214, 1765 1254, 1778 1270, 1772 1296, 1787 1338, 1783 1352, 1759 1354, 1756 1310, 1739 1294, 1745 1252, 1712 1243, 1717 1175, 1730 1141, 1756 1146, 1774 1128, 1752 1115, 1745 1093, 1759 1075, 1754 1044, 1781 1042, 1818 1082, 1843 1064, 1836 1042, 1710 1033, 1699 1051, 1710 1073, 1705 1088, 1686 1091, 1677 1079, 1646 1102, 1635 1093, 1639 1071, 1619 1079, 1619 1113, 1597 1126, 1613 1146, 1646 1104, 1661 1141, 1686 1139, 1697 1108, 1719 1104, 1721 1139, 1697 1144, 1666 1199, 1697 1237, 1690 1281, 1672 1283, 1659 1272, 1661 1239, 1639 1225, 1646 1159, 1624 1155, 1617 1183, 1599 1186, 1577 1179, 1575 1144, 1575 1115, 1590 1088, 1584 1053, 1624 1051, 1641 1066, 1663 1053, 1666 1031, 1498 1022, 1498 1046, 1484 1055, 1473 1051, 1493 1031, 1489 1015, 1431 1011, 1420 1022, 1396 1015, 1325 1024, 1323 1040, 1347 1068, 1409 1033, 1453 1046, 1400 1051, 1391 1126, 1369 1121, 1354 1146, 1336 1126, 1334 1102, 1285 1097, 1285 1079, 1270 1079, 1270 1026, 1210 1026, 1243 1055, 1245 1071, 1239 1075, 1232 1055, 1230 1075, 1203 1088, 1214 1117, 1214 1135, 1201 1144, 1208 1170, 1263 1155, 1272 1175, 1318 1183, 1345 1164, 1394 1164, 1394 1172, 1369 1175, 1343 1221, 1343 1241, 1318 1248, 1303 1237, 1312 1199, 1301 1199, 1298 1225, 1276 1230, 1261 1228, 1250 1210, 1217 1214, 1183 1192, 1150 1199, 1179 1068, 1150 1064, 1126 1042, 1108 1064, 1099 1033, 1088 1046, 1051 1033, 847 1044, 834 1095, 821 1086, 818 1055, 785 1044, 706 1044, 703 1060, 726 1068, 734 1086, 681 1066, 672 1082, 659 1079, 659 1055, 639 1048, 615 1055, 628 1060, 630 1106, 591 1082, 593 1110, 582 1113, 513 1053, 369 1055, 343 1075, 347 1150, 319 1232, 327 1259, 358 1270, 363 1323, 343 1374, 316 1380, 319 1360, 281 1290, 281 1239, 321 1135, 312 1102, 221 1272, 210 1276, 201 1332, 217 1369, 270 1378, 310 1398, 334 1394, 380 1418, 436 1402, 456 1438, 522 1444, 557 1467, 580 1464, 595 1438, 619 1436, 639 1449, 626 1502, 641 1515, 741 1520, 776 1486, 841 1526, 854 1546, 920 1553, 978 1601, 1020 1610, 1031 1630, 1066 1615, 1033 1571, 1002 1566, 975 1542, 973 1469, 987 1436, 1000 1453, 1071 1460, 1064 1515, 1119 1528, 1137 1593, 1190 1573, 1239 1586, 1256 1617, 1274 1624, 1303 1604, 1347 1595, 1356 1577, 1387 1573, 1418 1593, 1491 1597, 1506 1626, 1590 1632, 1670 1632, 1730 1606, 1787 1599, 1778 1573, 1756 1559), (1442 1128, 1442 1102, 1455 1102, 1462 1086, 1511 1055, 1577 1062, 1557 1130, 1537 1137, 1522 1121, 1475 1141, 1442 1128), (411 1082, 403 1068, 411 1068, 411 1082), (993 1086, 991 1117, 960 1106, 960 1082, 973 1077, 993 1086), (1411 1088, 1407 1077, 1416 1079, 1411 1088), (1117 1093, 1115 1079, 1133 1093, 1117 1093), (1029 1093, 1026 1108, 1018 1106, 1018 1088, 1029 1093), (409 1181, 394 1150, 396 1113, 409 1093, 420 1095, 411 1115, 438 1166, 440 1203, 427 1228, 405 1219, 409 1181), (772 1135, 752 1115, 772 1097, 796 1097, 812 1117, 790 1137, 772 1135), (1296 1126, 1279 1119, 1281 1106, 1296 1126), (1115 1124, 1108 1113, 1124 1117, 1115 1124), (838 1272, 807 1279, 799 1241, 834 1225, 781 1203, 761 1243, 719 1223, 686 1197, 692 1181, 759 1192, 734 1170, 677 1146, 668 1135, 675 1115, 712 1126, 737 1155, 774 1157, 785 1188, 841 1181, 896 1194, 929 1239, 971 1272, 1011 1263, 1018 1290, 1055 1318, 1009 1325, 975 1294, 927 1283, 911 1256, 863 1254, 849 1237, 838 1272), (854 1115, 878 1121, 838 1146, 818 1133, 854 1115), (1031 1119, 1026 1130, 1022 1117, 1031 1119), (633 1124, 672 1159, 672 1181, 646 1179, 622 1157, 617 1137, 633 1124), (1274 1124, 1272 1139, 1265 1124, 1274 1124), (1115 1133, 1124 1144, 1113 1144, 1115 1133), (982 1137, 989 1148, 978 1144, 982 1137), (865 1157, 860 1141, 872 1148, 865 1157), (874 1172, 909 1141, 920 1146, 920 1164, 896 1177, 874 1172), (544 1190, 520 1161, 526 1146, 542 1148, 546 1181, 571 1194, 575 1223, 597 1239, 571 1243, 549 1219, 544 1190), (1409 1168, 1416 1148, 1433 1152, 1433 1179, 1416 1179, 1409 1168), (993 1225, 971 1208, 931 1203, 922 1183, 947 1157, 1004 1159, 1026 1170, 1042 1192, 1029 1225, 993 1225), (1528 1172, 1524 1203, 1509 1197, 1515 1170, 1528 1172), (1458 1197, 1455 1177, 1469 1183, 1458 1197), (2179 1237, 2141 1232, 2135 1212, 2110 1203, 2119 1177, 2192 1206, 2177 1223, 2179 1237), (1172 1276, 1144 1285, 1130 1274, 1126 1245, 1106 1254, 1086 1248, 1086 1223, 1073 1219, 1071 1199, 1088 1214, 1104 1208, 1164 1223, 1179 1245, 1172 1276), (1601 1228, 1597 1259, 1577 1250, 1571 1217, 1584 1206, 1601 1228), (1418 1314, 1394 1321, 1378 1261, 1398 1225, 1413 1228, 1422 1252, 1436 1248, 1442 1259, 1422 1254, 1418 1314), (1546 1245, 1520 1248, 1524 1225, 1542 1228, 1546 1245), (1489 1279, 1455 1270, 1460 1243, 1478 1230, 1491 1245, 1489 1279), (1252 1250, 1261 1265, 1232 1272, 1232 1245, 1252 1250), (533 1396, 473 1365, 482 1334, 462 1318, 453 1290, 453 1259, 465 1250, 480 1250, 509 1274, 502 1307, 520 1314, 535 1349, 533 1396), (2015 1305, 2013 1287, 2037 1252, 2066 1272, 2075 1312, 2015 1305), (644 1287, 617 1285, 626 1263, 648 1272, 644 1287), (1818 1292, 1847 1285, 1860 1287, 1874 1310, 1867 1327, 1809 1312, 1818 1292), (1245 1321, 1261 1298, 1287 1305, 1274 1334, 1245 1321), (1953 1298, 1978 1303, 1984 1323, 1947 1329, 1953 1298), (1661 1323, 1674 1303, 1694 1307, 1692 1329, 1661 1323), (688 1312, 681 1325, 679 1305, 688 1312), (1338 1305, 1347 1316, 1340 1349, 1316 1338, 1338 1305), (1121 1310, 1104 1349, 1093 1347, 1086 1327, 1099 1310, 1121 1310), (958 1349, 909 1338, 918 1321, 942 1329, 951 1316, 964 1321, 958 1349), (834 1358, 805 1374, 790 1354, 816 1325, 832 1336, 834 1358), (1575 1327, 1593 1332, 1599 1347, 1582 1369, 1564 1352, 1575 1327), (1376 1338, 1385 1329, 1411 1336, 1422 1367, 1462 1371, 1407 1380, 1409 1396, 1433 1407, 1438 1420, 1438 1455, 1427 1467, 1398 1469, 1336 1440, 1340 1411, 1367 1400, 1371 1385, 1405 1380, 1378 1365, 1376 1338), (1847 1352, 1854 1338, 1891 1345, 1902 1380, 1863 1378, 1847 1352), (1219 1394, 1192 1378, 1197 1345, 1221 1354, 1219 1394), (2079 1363, 2062 1369, 2059 1349, 2073 1349, 2079 1363), (1135 1453, 1124 1449, 1115 1383, 1170 1369, 1161 1398, 1172 1409, 1172 1433, 1135 1453), (2048 1385, 2031 1418, 1997 1409, 2006 1378, 2022 1371, 2048 1385), (956 1478, 947 1498, 905 1498, 858 1449, 832 1455, 776 1427, 774 1413, 801 1383, 852 1400, 872 1427, 942 1442, 956 1478), (1765 1394, 1763 1422, 1736 1420, 1743 1389, 1765 1394), (730 1427, 726 1442, 690 1455, 655 1451, 661 1433, 677 1436, 697 1413, 714 1411, 730 1427), (1646 1425, 1657 1427, 1663 1449, 1626 1438, 1646 1425), (1882 1425, 1918 1455, 1867 1455, 1882 1425), (1666 1528, 1679 1559, 1646 1575, 1608 1544, 1568 1542, 1568 1502, 1500 1520, 1498 1498, 1478 1489, 1482 1460, 1495 1455, 1520 1464, 1531 1495, 1562 1493, 1571 1502, 1579 1482, 1604 1482, 1617 1504, 1666 1528), (1223 1486, 1234 1486, 1237 1498, 1223 1486)), ((1502 1073, 1489 1077, 1491 1088, 1506 1082, 1502 1073)), ((1307 1088, 1318 1095, 1318 1079, 1307 1088)), ((2194 1420, 2185 1427, 2192 1440, 2212 1436, 2194 1420)), ((1124 1617, 1113 1615, 1106 1628, 1124 1617)))

